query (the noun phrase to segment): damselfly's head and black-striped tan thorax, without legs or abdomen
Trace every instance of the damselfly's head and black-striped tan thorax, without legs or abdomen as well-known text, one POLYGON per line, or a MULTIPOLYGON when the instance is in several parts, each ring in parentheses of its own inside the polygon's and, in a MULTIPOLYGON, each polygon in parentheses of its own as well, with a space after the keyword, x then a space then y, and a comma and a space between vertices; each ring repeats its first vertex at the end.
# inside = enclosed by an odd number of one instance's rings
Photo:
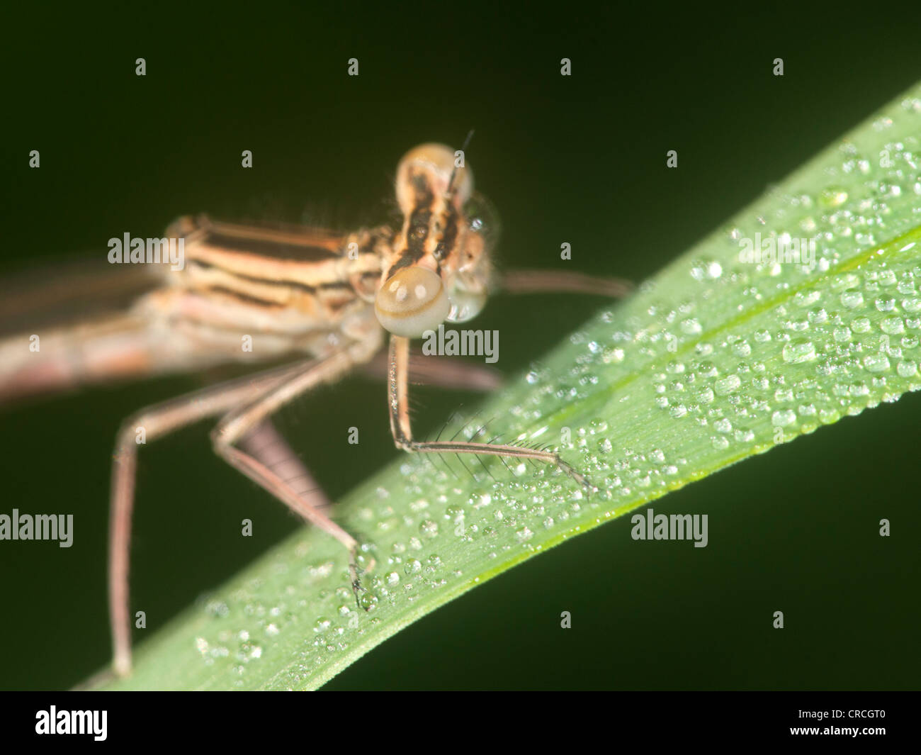
POLYGON ((180 218, 167 235, 184 238, 185 269, 164 270, 169 285, 137 309, 165 315, 184 351, 238 358, 241 329, 260 336, 271 358, 322 355, 342 336, 379 342, 381 326, 414 337, 469 320, 488 295, 496 229, 460 161, 437 144, 402 158, 398 229, 335 234, 180 218))

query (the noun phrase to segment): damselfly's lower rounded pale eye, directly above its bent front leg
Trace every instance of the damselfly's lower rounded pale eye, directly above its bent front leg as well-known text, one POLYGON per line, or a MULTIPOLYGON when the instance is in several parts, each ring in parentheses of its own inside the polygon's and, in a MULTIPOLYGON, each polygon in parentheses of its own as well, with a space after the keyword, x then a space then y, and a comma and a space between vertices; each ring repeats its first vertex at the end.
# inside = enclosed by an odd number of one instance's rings
POLYGON ((426 267, 397 270, 378 291, 374 312, 394 336, 417 338, 445 322, 451 308, 437 273, 426 267))

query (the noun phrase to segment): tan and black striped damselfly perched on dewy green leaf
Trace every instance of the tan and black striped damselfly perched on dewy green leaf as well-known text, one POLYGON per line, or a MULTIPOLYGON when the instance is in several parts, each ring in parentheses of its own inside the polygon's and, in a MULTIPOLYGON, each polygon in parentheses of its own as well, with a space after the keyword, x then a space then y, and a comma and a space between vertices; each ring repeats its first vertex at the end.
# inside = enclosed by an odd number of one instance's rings
MULTIPOLYGON (((550 450, 417 440, 407 386, 420 360, 411 358, 410 341, 446 322, 470 320, 498 289, 620 296, 629 284, 555 270, 499 275, 490 255, 495 220, 488 202, 473 192, 462 149, 415 147, 399 163, 395 188, 402 222, 351 233, 181 218, 166 233, 184 253, 181 265, 139 265, 149 290, 122 312, 86 321, 77 312, 71 324, 0 340, 0 401, 76 384, 288 360, 282 367, 143 408, 122 424, 113 457, 109 536, 116 673, 131 669, 129 544, 141 436, 152 441, 219 417, 211 433, 216 453, 348 549, 358 596, 363 588, 356 538, 326 513, 329 501, 307 482, 308 471, 270 418, 298 395, 371 363, 385 336, 391 433, 398 448, 531 459, 585 484, 577 469, 550 450)), ((163 240, 155 241, 165 252, 163 240)), ((55 282, 61 299, 69 300, 75 287, 89 296, 94 287, 104 288, 104 277, 55 282)), ((16 310, 15 297, 3 302, 5 317, 16 310)), ((428 383, 457 383, 459 373, 461 380, 478 377, 475 368, 458 364, 449 370, 437 359, 424 358, 428 383)))

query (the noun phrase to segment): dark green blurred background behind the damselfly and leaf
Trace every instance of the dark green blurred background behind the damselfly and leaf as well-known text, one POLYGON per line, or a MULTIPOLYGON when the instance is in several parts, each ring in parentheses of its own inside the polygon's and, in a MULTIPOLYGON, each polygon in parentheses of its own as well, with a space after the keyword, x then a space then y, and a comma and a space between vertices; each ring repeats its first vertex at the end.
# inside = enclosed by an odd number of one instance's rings
MULTIPOLYGON (((377 222, 407 148, 458 145, 475 128, 468 159, 503 220, 503 265, 549 267, 567 241, 574 268, 641 280, 921 79, 916 11, 132 7, 5 19, 0 275, 104 254, 111 236, 156 236, 189 212, 377 222), (346 77, 350 57, 360 77, 346 77), (33 148, 41 170, 27 167, 33 148)), ((501 324, 512 374, 600 303, 497 300, 477 326, 501 324)), ((0 542, 0 688, 68 687, 106 664, 114 433, 199 384, 0 413, 0 511, 76 517, 71 549, 0 542)), ((475 400, 420 396, 421 431, 475 400)), ((916 689, 919 420, 921 396, 908 395, 696 483, 653 505, 709 513, 706 549, 637 543, 615 521, 438 610, 328 687, 916 689)), ((398 456, 382 384, 324 389, 280 426, 332 498, 398 456), (344 442, 350 425, 360 452, 344 442)), ((134 524, 148 632, 298 526, 210 453, 204 425, 144 449, 134 524), (244 517, 255 537, 239 537, 244 517)))

